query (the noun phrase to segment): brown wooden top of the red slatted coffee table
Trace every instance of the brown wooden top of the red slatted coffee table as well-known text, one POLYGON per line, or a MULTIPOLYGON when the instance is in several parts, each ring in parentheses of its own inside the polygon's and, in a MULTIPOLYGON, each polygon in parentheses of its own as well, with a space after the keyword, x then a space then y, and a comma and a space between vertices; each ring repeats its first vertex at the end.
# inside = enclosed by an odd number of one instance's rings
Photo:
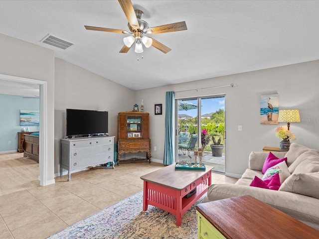
POLYGON ((152 173, 143 175, 141 179, 175 190, 182 190, 214 168, 208 165, 205 165, 205 167, 205 171, 175 170, 175 164, 171 164, 152 173))

